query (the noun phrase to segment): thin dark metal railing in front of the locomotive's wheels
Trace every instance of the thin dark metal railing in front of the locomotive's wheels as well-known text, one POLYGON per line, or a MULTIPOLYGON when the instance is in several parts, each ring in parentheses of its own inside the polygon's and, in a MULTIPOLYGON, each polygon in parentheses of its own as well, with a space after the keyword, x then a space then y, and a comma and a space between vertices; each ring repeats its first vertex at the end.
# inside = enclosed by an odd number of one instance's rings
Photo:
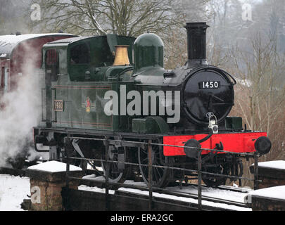
MULTIPOLYGON (((70 136, 68 135, 65 137, 65 143, 71 143, 70 140, 76 139, 76 140, 89 140, 89 141, 103 141, 105 146, 106 146, 106 155, 105 159, 91 159, 91 158, 77 158, 77 157, 72 157, 68 154, 68 150, 65 150, 65 160, 66 160, 66 187, 69 187, 69 182, 71 180, 82 180, 76 177, 70 176, 70 160, 84 160, 84 161, 94 161, 94 162, 104 162, 105 163, 105 174, 103 173, 103 177, 105 181, 92 181, 97 184, 105 184, 105 189, 106 189, 106 211, 110 210, 110 205, 109 205, 109 191, 110 191, 110 186, 117 186, 117 187, 125 187, 125 188, 139 188, 143 191, 148 191, 148 210, 153 210, 153 191, 165 191, 163 188, 156 188, 153 186, 153 168, 160 168, 160 169, 173 169, 181 172, 191 172, 191 173, 196 173, 198 174, 198 210, 203 210, 203 205, 202 205, 202 200, 203 200, 203 195, 202 195, 202 176, 203 174, 205 175, 210 175, 210 176, 221 176, 224 178, 229 178, 229 179, 241 179, 241 180, 246 180, 246 181, 254 181, 254 189, 258 188, 258 158, 260 155, 258 155, 257 152, 255 153, 236 153, 228 150, 216 150, 216 149, 208 149, 208 148, 195 148, 195 147, 188 147, 188 146, 173 146, 173 145, 165 145, 161 143, 153 143, 151 140, 146 142, 140 142, 140 141, 125 141, 125 140, 114 140, 114 139, 95 139, 95 138, 83 138, 83 137, 77 137, 77 136, 70 136), (148 149, 148 165, 144 164, 139 164, 139 163, 134 163, 134 162, 120 162, 118 160, 110 160, 109 155, 108 155, 108 148, 110 146, 110 143, 132 143, 136 144, 137 146, 141 146, 148 149), (197 162, 197 170, 195 169, 186 169, 186 168, 179 168, 179 167, 170 167, 170 166, 164 166, 164 165, 153 165, 152 163, 152 148, 153 146, 168 146, 168 147, 175 147, 175 148, 189 148, 193 150, 198 150, 198 162, 197 162), (241 177, 241 176, 229 176, 225 174, 215 174, 215 173, 210 173, 210 172, 203 172, 202 170, 202 152, 206 150, 209 152, 213 153, 228 153, 232 155, 241 155, 245 156, 247 158, 254 158, 254 179, 246 178, 246 177, 241 177), (110 173, 110 163, 120 163, 124 165, 131 165, 131 166, 142 166, 142 167, 148 167, 148 186, 143 187, 143 186, 135 186, 135 185, 129 185, 129 184, 118 184, 118 183, 113 183, 109 181, 109 173, 110 173)), ((129 150, 131 148, 128 148, 129 150)), ((168 191, 169 192, 169 191, 168 191)), ((169 192, 171 194, 171 192, 169 192)), ((189 207, 193 208, 193 207, 189 207)))

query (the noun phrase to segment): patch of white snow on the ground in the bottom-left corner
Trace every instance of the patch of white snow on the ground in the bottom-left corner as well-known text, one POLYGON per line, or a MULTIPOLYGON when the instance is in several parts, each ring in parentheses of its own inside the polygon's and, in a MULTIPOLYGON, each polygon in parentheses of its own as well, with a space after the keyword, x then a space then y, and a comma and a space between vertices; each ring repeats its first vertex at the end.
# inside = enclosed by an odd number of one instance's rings
POLYGON ((23 211, 20 204, 30 195, 30 179, 0 174, 0 211, 23 211))

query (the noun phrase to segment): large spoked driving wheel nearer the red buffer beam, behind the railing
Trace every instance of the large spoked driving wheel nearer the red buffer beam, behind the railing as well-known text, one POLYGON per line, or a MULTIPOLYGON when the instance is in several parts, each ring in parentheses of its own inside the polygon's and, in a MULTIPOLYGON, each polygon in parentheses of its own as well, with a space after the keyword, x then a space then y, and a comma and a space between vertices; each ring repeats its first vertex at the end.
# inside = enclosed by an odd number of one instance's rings
MULTIPOLYGON (((160 158, 160 150, 159 146, 152 146, 152 165, 162 166, 165 165, 165 162, 161 162, 161 160, 165 160, 165 158, 160 158)), ((141 176, 144 179, 144 182, 148 185, 148 148, 143 149, 139 148, 139 170, 141 172, 141 176)), ((168 160, 166 159, 166 165, 169 165, 168 160)), ((171 169, 166 168, 152 168, 153 173, 153 183, 152 185, 157 188, 163 188, 167 186, 170 182, 170 174, 171 169)))

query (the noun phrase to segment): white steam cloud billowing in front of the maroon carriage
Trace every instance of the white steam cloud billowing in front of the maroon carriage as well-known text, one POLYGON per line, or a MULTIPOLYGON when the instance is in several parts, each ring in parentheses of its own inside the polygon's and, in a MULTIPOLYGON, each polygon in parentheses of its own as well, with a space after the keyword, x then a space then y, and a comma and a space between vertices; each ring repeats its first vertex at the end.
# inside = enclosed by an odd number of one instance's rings
MULTIPOLYGON (((26 49, 30 49, 26 46, 26 49)), ((41 57, 41 56, 39 56, 41 57)), ((13 78, 17 86, 1 96, 0 110, 0 167, 9 158, 15 158, 24 149, 34 155, 32 127, 37 126, 41 115, 42 76, 34 69, 37 54, 30 53, 23 63, 23 76, 13 78)), ((30 154, 31 155, 31 154, 30 154)))

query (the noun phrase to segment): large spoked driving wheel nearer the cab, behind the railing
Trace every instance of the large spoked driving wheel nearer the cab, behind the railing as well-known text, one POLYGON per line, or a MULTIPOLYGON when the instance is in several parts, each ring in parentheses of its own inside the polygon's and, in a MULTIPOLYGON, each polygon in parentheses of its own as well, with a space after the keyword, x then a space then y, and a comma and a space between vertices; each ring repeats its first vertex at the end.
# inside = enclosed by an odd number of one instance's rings
MULTIPOLYGON (((124 150, 124 158, 125 162, 128 160, 128 150, 124 150)), ((125 180, 127 179, 127 175, 129 174, 130 167, 128 165, 125 165, 125 169, 120 169, 119 168, 119 154, 118 150, 108 150, 108 155, 109 155, 109 160, 110 161, 116 161, 116 162, 109 162, 109 174, 108 174, 108 181, 112 183, 124 183, 125 180)), ((102 154, 102 160, 106 159, 106 152, 105 150, 103 151, 102 154)), ((106 176, 106 162, 102 162, 102 169, 103 169, 103 174, 106 176)))

